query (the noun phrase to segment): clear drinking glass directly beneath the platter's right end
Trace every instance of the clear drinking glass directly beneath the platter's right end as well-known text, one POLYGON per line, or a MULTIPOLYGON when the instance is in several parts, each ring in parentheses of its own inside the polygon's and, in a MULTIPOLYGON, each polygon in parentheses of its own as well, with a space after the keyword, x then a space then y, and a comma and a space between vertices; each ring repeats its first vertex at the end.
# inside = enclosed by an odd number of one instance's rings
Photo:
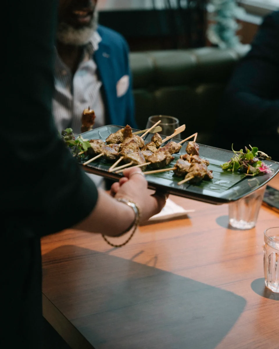
POLYGON ((261 208, 266 185, 243 199, 229 204, 229 224, 237 229, 255 227, 261 208))

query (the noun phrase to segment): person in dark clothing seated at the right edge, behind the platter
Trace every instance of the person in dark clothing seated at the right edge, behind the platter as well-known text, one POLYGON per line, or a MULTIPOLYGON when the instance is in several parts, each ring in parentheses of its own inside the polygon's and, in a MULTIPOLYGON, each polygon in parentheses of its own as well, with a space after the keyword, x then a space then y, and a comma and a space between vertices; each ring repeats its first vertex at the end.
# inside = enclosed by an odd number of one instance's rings
POLYGON ((268 15, 236 67, 221 106, 215 146, 258 147, 279 160, 279 11, 268 15))

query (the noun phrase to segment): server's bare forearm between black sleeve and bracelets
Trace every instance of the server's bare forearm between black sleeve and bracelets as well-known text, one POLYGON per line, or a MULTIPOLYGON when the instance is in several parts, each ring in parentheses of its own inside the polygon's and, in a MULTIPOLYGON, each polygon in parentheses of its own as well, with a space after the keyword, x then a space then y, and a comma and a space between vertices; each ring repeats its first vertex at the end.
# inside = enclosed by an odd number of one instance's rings
POLYGON ((121 203, 99 190, 98 201, 91 212, 82 222, 73 229, 85 230, 92 233, 101 233, 107 236, 117 236, 135 220, 135 213, 125 203, 121 203))

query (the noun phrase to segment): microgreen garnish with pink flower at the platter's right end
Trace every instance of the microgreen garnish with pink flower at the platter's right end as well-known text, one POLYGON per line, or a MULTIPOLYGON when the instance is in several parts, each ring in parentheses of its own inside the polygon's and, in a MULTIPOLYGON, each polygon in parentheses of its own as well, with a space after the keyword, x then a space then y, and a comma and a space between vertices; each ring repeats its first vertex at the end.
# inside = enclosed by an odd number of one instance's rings
POLYGON ((226 171, 244 172, 248 176, 270 173, 270 166, 266 165, 260 159, 271 160, 271 157, 263 153, 263 151, 259 151, 257 147, 250 146, 250 148, 251 150, 245 147, 245 151, 243 151, 243 149, 235 151, 232 144, 234 156, 231 160, 221 165, 221 168, 226 171))

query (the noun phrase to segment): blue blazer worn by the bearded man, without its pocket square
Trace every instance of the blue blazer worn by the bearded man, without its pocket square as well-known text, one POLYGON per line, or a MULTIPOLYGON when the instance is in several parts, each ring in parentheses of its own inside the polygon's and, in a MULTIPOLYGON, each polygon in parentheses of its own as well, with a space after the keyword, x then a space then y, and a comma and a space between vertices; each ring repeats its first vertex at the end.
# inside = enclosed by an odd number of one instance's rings
POLYGON ((120 126, 128 124, 136 128, 128 44, 119 33, 103 25, 99 25, 97 31, 102 41, 93 59, 103 83, 106 123, 120 126), (123 96, 118 97, 116 85, 124 75, 129 76, 129 88, 123 96))

